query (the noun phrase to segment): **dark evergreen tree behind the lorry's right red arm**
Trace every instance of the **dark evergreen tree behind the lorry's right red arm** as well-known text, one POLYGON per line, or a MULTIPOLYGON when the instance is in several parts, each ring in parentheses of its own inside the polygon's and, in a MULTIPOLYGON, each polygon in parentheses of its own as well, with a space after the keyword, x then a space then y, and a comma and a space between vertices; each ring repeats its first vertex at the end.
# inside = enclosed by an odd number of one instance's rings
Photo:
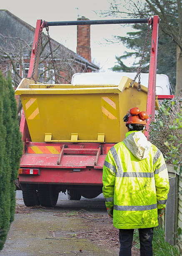
MULTIPOLYGON (((118 41, 127 46, 130 51, 126 51, 125 55, 116 56, 117 63, 112 67, 113 71, 117 72, 137 72, 137 68, 140 64, 141 54, 144 48, 145 36, 147 34, 146 24, 134 24, 132 26, 136 32, 128 32, 126 37, 117 36, 118 41), (135 62, 132 67, 127 67, 123 63, 123 59, 133 57, 135 62), (136 61, 136 59, 138 61, 136 61)), ((151 50, 151 37, 152 31, 150 29, 147 39, 147 46, 145 49, 144 60, 142 64, 142 73, 149 72, 150 64, 150 50, 151 50)), ((159 27, 158 37, 158 54, 157 54, 157 74, 167 74, 170 79, 172 89, 175 91, 176 84, 176 45, 172 41, 171 37, 163 33, 159 27)))

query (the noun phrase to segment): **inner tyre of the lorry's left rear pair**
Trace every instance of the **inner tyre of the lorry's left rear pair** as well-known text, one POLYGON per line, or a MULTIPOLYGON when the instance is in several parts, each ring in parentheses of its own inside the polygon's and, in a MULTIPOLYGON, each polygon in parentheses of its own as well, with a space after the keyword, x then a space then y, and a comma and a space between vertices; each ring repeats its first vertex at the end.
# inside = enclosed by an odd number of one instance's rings
POLYGON ((55 207, 57 204, 59 192, 52 185, 38 185, 38 197, 40 205, 46 207, 55 207))

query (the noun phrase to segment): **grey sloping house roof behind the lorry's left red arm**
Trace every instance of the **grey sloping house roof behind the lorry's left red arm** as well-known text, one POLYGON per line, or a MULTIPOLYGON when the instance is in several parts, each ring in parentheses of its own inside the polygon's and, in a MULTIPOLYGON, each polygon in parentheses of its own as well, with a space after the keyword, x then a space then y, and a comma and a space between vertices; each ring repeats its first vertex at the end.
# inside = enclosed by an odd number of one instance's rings
MULTIPOLYGON (((35 34, 35 28, 30 26, 25 21, 21 20, 14 14, 10 13, 8 10, 0 10, 0 33, 3 36, 11 36, 11 37, 19 37, 27 42, 33 41, 34 34, 35 34)), ((43 36, 45 36, 44 33, 42 33, 43 36)), ((51 38, 51 42, 56 47, 60 45, 57 41, 51 38)), ((1 42, 0 42, 1 43, 1 42)), ((48 46, 47 46, 48 47, 48 46)), ((61 50, 67 50, 72 54, 74 59, 78 61, 79 63, 85 64, 88 68, 90 68, 92 71, 99 70, 99 67, 97 67, 95 64, 90 63, 87 59, 83 58, 82 56, 76 54, 74 51, 71 51, 70 49, 66 48, 62 44, 60 45, 61 50)), ((48 49, 47 49, 48 50, 48 49)))

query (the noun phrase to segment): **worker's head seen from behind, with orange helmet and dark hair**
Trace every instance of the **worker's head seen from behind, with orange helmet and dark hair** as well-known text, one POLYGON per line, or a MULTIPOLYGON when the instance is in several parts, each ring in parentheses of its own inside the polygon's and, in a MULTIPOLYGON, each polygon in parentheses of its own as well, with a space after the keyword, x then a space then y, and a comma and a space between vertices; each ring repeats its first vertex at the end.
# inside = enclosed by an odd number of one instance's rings
POLYGON ((128 131, 143 131, 146 128, 148 118, 147 112, 140 112, 139 108, 131 108, 123 120, 126 122, 128 131))

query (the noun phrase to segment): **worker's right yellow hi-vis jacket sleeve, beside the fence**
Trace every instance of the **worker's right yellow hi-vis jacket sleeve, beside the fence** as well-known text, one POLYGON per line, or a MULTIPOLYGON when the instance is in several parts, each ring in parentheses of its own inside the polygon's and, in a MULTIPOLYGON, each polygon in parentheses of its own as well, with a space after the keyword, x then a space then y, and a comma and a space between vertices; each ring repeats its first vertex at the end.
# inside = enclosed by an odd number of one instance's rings
POLYGON ((167 201, 167 194, 170 190, 170 184, 165 159, 159 149, 157 149, 154 156, 153 168, 155 173, 157 209, 163 209, 166 207, 165 204, 167 201))

